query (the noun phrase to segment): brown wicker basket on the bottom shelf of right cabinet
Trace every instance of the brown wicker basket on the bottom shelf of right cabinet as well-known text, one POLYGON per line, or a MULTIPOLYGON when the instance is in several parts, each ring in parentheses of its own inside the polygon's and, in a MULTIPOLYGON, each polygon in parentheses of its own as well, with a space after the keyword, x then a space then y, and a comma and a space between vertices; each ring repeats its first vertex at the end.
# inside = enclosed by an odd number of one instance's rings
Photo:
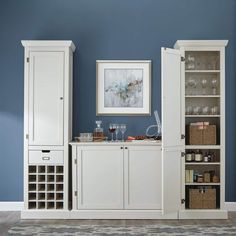
POLYGON ((216 189, 190 189, 190 209, 216 209, 216 189))

